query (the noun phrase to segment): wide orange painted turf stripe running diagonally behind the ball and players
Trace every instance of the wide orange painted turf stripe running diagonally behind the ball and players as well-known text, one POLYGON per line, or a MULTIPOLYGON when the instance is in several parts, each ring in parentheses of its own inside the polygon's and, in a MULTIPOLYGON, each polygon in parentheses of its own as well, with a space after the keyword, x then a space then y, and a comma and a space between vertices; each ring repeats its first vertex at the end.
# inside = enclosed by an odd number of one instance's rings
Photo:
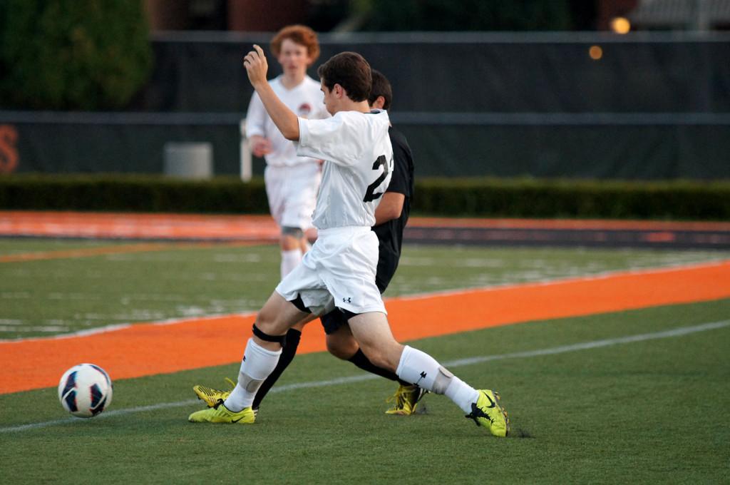
MULTIPOLYGON (((730 297, 730 260, 460 291, 387 302, 397 339, 730 297)), ((0 342, 0 394, 56 386, 68 367, 93 362, 114 379, 174 373, 241 359, 253 316, 135 324, 95 335, 0 342)), ((319 324, 305 327, 299 353, 324 351, 319 324)))

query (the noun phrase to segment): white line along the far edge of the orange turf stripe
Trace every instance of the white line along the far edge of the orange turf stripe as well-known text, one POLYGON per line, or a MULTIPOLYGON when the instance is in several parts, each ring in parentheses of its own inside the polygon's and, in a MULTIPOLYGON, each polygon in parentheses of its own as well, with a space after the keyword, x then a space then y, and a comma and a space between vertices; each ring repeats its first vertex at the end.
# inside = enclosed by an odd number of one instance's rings
MULTIPOLYGON (((677 264, 670 264, 665 267, 653 267, 653 268, 639 268, 639 269, 631 269, 628 270, 608 270, 604 272, 597 272, 593 275, 586 275, 581 277, 575 277, 575 276, 561 276, 558 278, 548 278, 546 280, 534 280, 534 281, 525 281, 523 283, 502 283, 497 285, 491 285, 491 286, 482 286, 482 287, 474 287, 474 288, 465 288, 465 289, 449 289, 449 290, 437 290, 437 291, 429 291, 426 293, 415 293, 415 294, 408 294, 408 295, 401 295, 399 297, 389 297, 385 298, 385 303, 387 304, 389 299, 401 299, 401 300, 413 300, 413 299, 426 299, 431 297, 445 297, 445 296, 451 296, 451 295, 458 295, 458 294, 469 294, 469 293, 475 293, 477 291, 499 291, 504 289, 509 289, 510 287, 532 287, 532 286, 550 286, 550 285, 556 285, 561 283, 567 283, 570 281, 591 281, 591 280, 602 280, 606 278, 611 278, 614 276, 621 276, 621 275, 652 275, 656 273, 662 273, 662 272, 671 272, 676 270, 695 270, 702 267, 716 267, 716 266, 722 266, 723 264, 729 264, 730 259, 712 259, 710 261, 699 261, 694 263, 677 263, 677 264)), ((87 335, 94 335, 99 333, 105 333, 105 332, 114 332, 115 330, 120 329, 126 329, 133 325, 174 325, 174 324, 184 324, 186 322, 192 321, 192 320, 212 320, 215 318, 220 317, 233 317, 233 316, 239 316, 239 317, 248 317, 248 316, 255 316, 258 312, 257 311, 249 311, 249 312, 240 312, 240 313, 220 313, 220 314, 212 314, 207 316, 200 316, 196 318, 191 317, 175 317, 175 318, 166 318, 164 320, 160 321, 150 321, 150 322, 137 322, 137 323, 126 323, 126 324, 112 324, 107 326, 99 326, 93 329, 85 329, 85 330, 79 330, 77 332, 70 332, 65 333, 61 335, 50 335, 47 337, 16 337, 16 338, 0 338, 0 343, 4 342, 32 342, 34 340, 57 340, 57 339, 64 339, 64 338, 73 338, 73 337, 85 337, 87 335)))

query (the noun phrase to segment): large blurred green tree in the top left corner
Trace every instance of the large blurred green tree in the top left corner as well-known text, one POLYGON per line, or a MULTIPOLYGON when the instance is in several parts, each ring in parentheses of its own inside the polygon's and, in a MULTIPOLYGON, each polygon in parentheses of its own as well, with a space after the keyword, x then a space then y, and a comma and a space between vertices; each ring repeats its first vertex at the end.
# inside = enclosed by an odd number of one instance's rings
POLYGON ((0 1, 1 107, 124 107, 151 68, 142 1, 0 1))

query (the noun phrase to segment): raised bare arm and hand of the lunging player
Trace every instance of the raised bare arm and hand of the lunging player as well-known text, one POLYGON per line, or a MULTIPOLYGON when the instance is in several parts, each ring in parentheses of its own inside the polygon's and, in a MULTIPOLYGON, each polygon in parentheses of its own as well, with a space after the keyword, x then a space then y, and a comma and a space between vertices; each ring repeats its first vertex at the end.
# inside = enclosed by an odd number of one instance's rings
POLYGON ((258 45, 253 46, 252 51, 247 53, 243 58, 243 65, 248 74, 248 80, 256 90, 258 97, 272 118, 274 125, 277 126, 281 134, 287 140, 299 140, 299 120, 292 110, 281 102, 279 97, 274 93, 271 85, 266 81, 266 71, 269 65, 266 63, 264 50, 258 45))

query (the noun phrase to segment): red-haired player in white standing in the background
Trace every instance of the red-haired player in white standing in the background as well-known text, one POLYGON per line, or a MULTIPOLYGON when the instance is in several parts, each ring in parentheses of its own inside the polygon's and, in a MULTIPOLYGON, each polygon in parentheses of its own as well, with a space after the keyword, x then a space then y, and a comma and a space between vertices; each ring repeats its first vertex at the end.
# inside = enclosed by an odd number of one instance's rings
MULTIPOLYGON (((317 34, 306 26, 281 29, 271 42, 283 74, 269 81, 279 99, 300 118, 327 118, 320 83, 307 76, 319 57, 317 34)), ((296 267, 309 248, 305 232, 312 227, 312 212, 320 185, 320 161, 297 156, 253 93, 246 113, 246 136, 255 156, 266 159, 264 180, 269 210, 280 228, 281 277, 296 267)))

